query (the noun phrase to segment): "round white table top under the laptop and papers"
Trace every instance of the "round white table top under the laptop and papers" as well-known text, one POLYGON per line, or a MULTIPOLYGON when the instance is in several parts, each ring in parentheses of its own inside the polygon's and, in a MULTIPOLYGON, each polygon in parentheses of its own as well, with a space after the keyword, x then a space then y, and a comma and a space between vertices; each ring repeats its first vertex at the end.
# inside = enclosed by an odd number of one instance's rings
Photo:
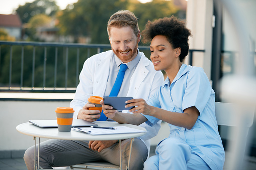
MULTIPOLYGON (((131 125, 131 124, 119 124, 117 122, 105 122, 96 121, 94 122, 98 126, 111 127, 111 126, 127 126, 131 128, 136 128, 140 130, 145 130, 145 128, 131 125)), ((20 124, 16 129, 22 133, 29 136, 51 138, 51 139, 63 139, 63 140, 117 140, 117 139, 127 139, 133 137, 139 137, 144 135, 146 132, 141 133, 125 133, 125 134, 105 134, 105 135, 90 135, 81 132, 76 132, 71 130, 70 132, 59 132, 58 128, 40 128, 29 122, 20 124)))

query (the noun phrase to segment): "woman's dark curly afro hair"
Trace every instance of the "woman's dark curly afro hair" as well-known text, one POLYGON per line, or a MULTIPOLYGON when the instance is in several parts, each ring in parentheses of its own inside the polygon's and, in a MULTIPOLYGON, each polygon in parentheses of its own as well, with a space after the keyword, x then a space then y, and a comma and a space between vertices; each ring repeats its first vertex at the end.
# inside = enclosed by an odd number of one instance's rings
POLYGON ((141 33, 143 43, 151 42, 157 35, 165 36, 173 49, 181 48, 179 56, 182 62, 189 53, 189 36, 192 36, 191 31, 186 28, 186 23, 174 16, 170 18, 162 18, 154 22, 148 21, 145 29, 141 33))

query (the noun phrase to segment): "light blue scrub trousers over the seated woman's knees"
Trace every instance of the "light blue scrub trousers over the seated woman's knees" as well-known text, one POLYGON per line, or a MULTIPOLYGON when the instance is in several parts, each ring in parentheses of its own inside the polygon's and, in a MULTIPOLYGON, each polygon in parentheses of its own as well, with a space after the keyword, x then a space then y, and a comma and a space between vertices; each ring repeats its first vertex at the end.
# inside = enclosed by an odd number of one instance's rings
POLYGON ((191 152, 191 147, 179 138, 166 138, 156 149, 156 155, 144 162, 144 169, 211 169, 197 154, 191 152))

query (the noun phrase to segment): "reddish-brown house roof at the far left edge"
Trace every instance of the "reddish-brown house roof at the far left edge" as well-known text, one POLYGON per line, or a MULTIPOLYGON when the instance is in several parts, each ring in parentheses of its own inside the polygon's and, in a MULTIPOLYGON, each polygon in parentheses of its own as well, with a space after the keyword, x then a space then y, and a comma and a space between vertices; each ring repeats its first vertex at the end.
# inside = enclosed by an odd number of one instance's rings
POLYGON ((19 15, 4 15, 0 14, 0 26, 5 27, 21 27, 21 19, 19 15))

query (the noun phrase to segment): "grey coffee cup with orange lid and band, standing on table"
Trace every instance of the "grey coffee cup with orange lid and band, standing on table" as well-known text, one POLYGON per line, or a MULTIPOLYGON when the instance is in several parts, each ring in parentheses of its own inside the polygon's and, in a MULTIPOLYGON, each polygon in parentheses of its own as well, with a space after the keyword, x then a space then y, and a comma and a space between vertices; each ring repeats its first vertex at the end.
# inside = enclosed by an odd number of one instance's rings
POLYGON ((69 132, 73 122, 73 108, 57 107, 55 112, 57 116, 58 130, 61 132, 69 132))

